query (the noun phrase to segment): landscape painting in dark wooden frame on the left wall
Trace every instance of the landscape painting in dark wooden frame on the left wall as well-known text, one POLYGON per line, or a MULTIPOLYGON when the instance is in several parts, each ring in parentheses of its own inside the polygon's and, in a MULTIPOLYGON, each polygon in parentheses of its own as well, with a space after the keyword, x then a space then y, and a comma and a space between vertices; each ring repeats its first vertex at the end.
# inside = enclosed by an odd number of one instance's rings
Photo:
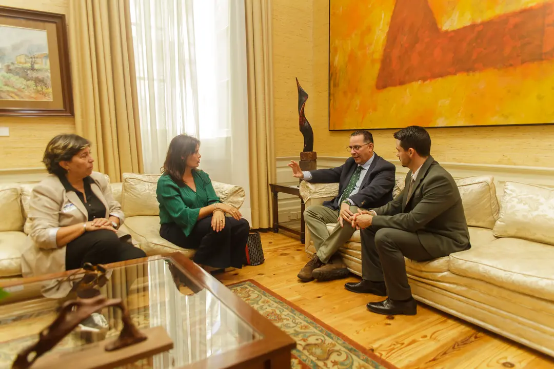
POLYGON ((0 7, 0 115, 73 115, 65 15, 0 7))

